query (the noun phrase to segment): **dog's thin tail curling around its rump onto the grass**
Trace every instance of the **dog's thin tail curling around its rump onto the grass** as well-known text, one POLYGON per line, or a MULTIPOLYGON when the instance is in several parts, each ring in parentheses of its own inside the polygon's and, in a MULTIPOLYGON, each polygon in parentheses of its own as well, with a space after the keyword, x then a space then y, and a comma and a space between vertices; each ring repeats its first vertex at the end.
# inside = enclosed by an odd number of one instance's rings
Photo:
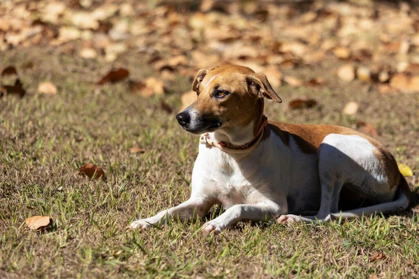
POLYGON ((360 209, 353 209, 349 211, 331 213, 330 216, 334 219, 352 219, 358 218, 362 215, 369 216, 376 213, 394 213, 397 211, 404 211, 409 206, 411 199, 411 190, 409 184, 402 174, 400 174, 400 183, 397 186, 395 193, 395 200, 392 202, 385 202, 383 204, 375 204, 373 206, 367 206, 360 209))

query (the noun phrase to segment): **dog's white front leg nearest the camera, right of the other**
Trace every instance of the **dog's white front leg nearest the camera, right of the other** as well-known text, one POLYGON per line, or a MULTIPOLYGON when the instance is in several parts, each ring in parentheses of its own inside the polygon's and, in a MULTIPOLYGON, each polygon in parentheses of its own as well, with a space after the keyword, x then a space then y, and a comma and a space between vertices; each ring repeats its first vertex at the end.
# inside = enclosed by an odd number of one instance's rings
POLYGON ((235 225, 240 220, 263 221, 278 218, 281 208, 273 202, 259 204, 236 204, 226 210, 221 216, 203 225, 205 232, 219 233, 230 225, 235 225))

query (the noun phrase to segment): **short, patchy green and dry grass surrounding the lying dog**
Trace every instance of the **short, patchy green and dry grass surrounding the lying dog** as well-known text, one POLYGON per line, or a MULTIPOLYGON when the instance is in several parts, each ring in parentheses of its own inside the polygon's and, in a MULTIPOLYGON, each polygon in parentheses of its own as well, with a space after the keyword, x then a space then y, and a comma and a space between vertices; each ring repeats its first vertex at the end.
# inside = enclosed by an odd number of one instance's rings
MULTIPOLYGON (((131 53, 115 67, 124 66, 140 79, 150 75, 141 62, 131 53)), ((189 197, 198 139, 178 127, 175 113, 161 109, 161 98, 131 95, 126 82, 95 89, 94 82, 110 68, 101 61, 31 48, 2 53, 0 63, 17 66, 28 92, 22 99, 0 100, 1 278, 418 276, 417 195, 402 216, 323 225, 240 223, 219 236, 199 232, 205 218, 126 231, 132 220, 189 197), (25 69, 27 61, 36 68, 25 69), (42 81, 56 84, 59 93, 38 95, 42 81), (134 144, 147 151, 131 154, 134 144), (84 163, 101 166, 108 179, 79 176, 84 163), (36 215, 51 216, 53 225, 30 231, 24 219, 36 215)), ((288 73, 306 80, 332 73, 333 67, 324 63, 288 73)), ((341 110, 355 100, 358 119, 376 126, 378 140, 397 161, 418 172, 419 95, 380 95, 360 82, 348 86, 335 75, 326 77, 321 89, 277 90, 285 104, 309 97, 318 100, 317 107, 293 111, 269 102, 267 116, 353 127, 356 119, 341 110)), ((177 111, 179 93, 190 81, 177 77, 169 85, 165 101, 177 111)), ((415 177, 408 181, 412 190, 418 188, 415 177)), ((207 219, 220 212, 211 211, 207 219)))

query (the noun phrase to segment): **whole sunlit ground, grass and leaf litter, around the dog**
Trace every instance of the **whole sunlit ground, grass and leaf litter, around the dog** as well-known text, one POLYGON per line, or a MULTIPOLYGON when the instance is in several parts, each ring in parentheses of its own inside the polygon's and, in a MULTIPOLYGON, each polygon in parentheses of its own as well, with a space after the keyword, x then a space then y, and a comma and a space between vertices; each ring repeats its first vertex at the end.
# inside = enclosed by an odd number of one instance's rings
MULTIPOLYGON (((302 1, 312 5, 258 10, 252 1, 202 1, 200 7, 179 1, 186 8, 123 2, 0 3, 0 70, 15 66, 26 90, 20 98, 0 88, 6 95, 0 97, 0 278, 419 276, 414 6, 302 1), (223 2, 233 11, 223 10, 223 2), (239 2, 250 5, 237 15, 239 2), (100 26, 88 25, 98 23, 89 14, 96 8, 111 12, 105 18, 96 13, 100 26), (72 15, 79 20, 72 22, 72 15), (319 51, 320 59, 313 59, 319 51), (198 137, 184 132, 175 114, 193 73, 224 60, 276 77, 274 89, 284 103, 267 100, 272 121, 376 134, 416 174, 406 177, 413 192, 409 209, 320 225, 243 222, 219 235, 203 234, 205 220, 223 211, 216 207, 189 223, 126 230, 133 220, 188 199, 198 137), (362 81, 358 74, 345 81, 347 73, 342 79, 337 71, 346 63, 389 73, 391 80, 362 81), (128 78, 95 84, 120 67, 128 78), (130 90, 132 81, 147 77, 164 80, 166 92, 153 94, 156 86, 145 84, 130 90), (320 86, 305 83, 318 77, 325 81, 320 86), (38 93, 41 82, 57 86, 57 93, 38 93), (317 104, 293 110, 289 103, 297 98, 317 104), (358 112, 344 114, 348 102, 357 103, 358 112), (144 152, 132 153, 133 146, 144 152), (86 163, 102 167, 106 179, 80 176, 86 163), (25 225, 31 216, 50 216, 52 224, 31 230, 25 225)), ((10 85, 16 76, 0 79, 0 86, 10 85)))

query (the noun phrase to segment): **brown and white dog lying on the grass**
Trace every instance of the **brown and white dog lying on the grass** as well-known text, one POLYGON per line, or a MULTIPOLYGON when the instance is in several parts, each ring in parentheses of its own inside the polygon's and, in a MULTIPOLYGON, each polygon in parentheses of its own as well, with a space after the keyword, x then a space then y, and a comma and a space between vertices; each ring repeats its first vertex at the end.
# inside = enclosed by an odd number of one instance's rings
POLYGON ((176 116, 184 130, 202 134, 191 197, 129 227, 205 216, 213 204, 226 209, 203 226, 214 233, 240 220, 321 222, 409 205, 395 159, 371 137, 339 126, 268 123, 264 97, 281 98, 265 75, 233 65, 202 69, 193 90, 198 99, 176 116), (360 200, 369 205, 340 211, 360 200))

